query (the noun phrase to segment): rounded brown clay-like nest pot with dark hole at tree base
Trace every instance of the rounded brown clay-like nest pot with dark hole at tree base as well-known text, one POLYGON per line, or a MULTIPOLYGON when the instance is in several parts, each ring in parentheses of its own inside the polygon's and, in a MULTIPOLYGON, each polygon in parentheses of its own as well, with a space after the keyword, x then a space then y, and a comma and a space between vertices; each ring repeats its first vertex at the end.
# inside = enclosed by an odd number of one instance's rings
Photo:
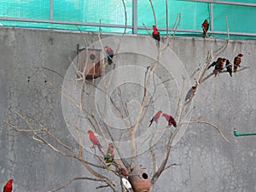
POLYGON ((151 187, 148 173, 144 170, 142 166, 135 166, 131 169, 128 180, 134 192, 148 192, 151 187))

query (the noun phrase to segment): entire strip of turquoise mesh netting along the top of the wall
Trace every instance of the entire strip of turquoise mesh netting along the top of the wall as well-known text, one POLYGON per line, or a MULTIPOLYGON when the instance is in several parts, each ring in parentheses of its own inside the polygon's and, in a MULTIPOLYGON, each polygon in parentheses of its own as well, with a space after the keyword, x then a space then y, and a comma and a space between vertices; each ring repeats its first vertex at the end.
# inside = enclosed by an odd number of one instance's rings
MULTIPOLYGON (((127 26, 132 26, 133 10, 132 0, 125 0, 127 26)), ((223 2, 256 3, 255 0, 223 0, 223 2)), ((166 0, 152 0, 154 11, 159 28, 166 27, 166 0)), ((31 20, 50 21, 49 0, 1 0, 0 17, 23 18, 31 20)), ((125 25, 125 9, 121 0, 53 0, 52 17, 53 21, 102 23, 110 25, 125 25)), ((177 14, 181 14, 180 30, 200 30, 201 23, 207 19, 210 21, 210 3, 199 3, 183 0, 168 0, 168 25, 172 28, 177 14)), ((256 33, 256 7, 213 4, 213 29, 218 32, 226 32, 227 16, 230 32, 256 33)), ((100 30, 99 26, 76 26, 66 24, 54 24, 48 22, 28 22, 15 20, 0 20, 3 26, 40 27, 65 30, 100 30)), ((137 0, 137 26, 138 33, 146 34, 149 31, 143 29, 145 26, 154 25, 154 16, 148 0, 137 0)), ((124 32, 122 27, 101 27, 102 32, 124 32)), ((127 28, 127 33, 132 29, 127 28)), ((165 34, 166 32, 161 32, 165 34)), ((177 32, 177 35, 201 36, 196 32, 177 32)), ((211 34, 210 34, 211 35, 211 34)), ((217 35, 214 35, 217 37, 217 35)), ((218 35, 219 38, 225 36, 218 35)), ((233 38, 255 38, 233 36, 233 38)), ((232 37, 231 37, 232 38, 232 37)))

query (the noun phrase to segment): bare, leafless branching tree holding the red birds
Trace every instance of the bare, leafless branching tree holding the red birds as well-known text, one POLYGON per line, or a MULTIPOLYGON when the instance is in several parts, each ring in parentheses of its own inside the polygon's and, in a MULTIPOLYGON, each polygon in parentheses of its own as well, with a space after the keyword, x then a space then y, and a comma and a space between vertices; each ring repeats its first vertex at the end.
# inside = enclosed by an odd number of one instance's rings
MULTIPOLYGON (((126 8, 125 2, 123 2, 123 6, 125 9, 125 26, 126 26, 126 8)), ((154 5, 152 1, 149 1, 152 7, 153 15, 154 15, 154 24, 156 26, 157 20, 155 18, 154 13, 154 5)), ((88 171, 90 177, 74 177, 64 183, 62 186, 51 189, 50 191, 57 191, 60 189, 64 189, 70 183, 73 183, 77 180, 87 180, 91 182, 99 183, 96 189, 102 188, 110 188, 112 191, 127 191, 128 189, 124 188, 124 185, 121 182, 123 177, 127 177, 129 172, 131 172, 134 166, 137 166, 137 158, 138 154, 141 153, 141 148, 137 144, 136 137, 140 136, 143 131, 143 126, 148 123, 147 117, 149 110, 153 108, 155 102, 155 94, 156 90, 160 86, 160 84, 164 84, 165 82, 157 82, 154 75, 160 66, 161 56, 165 53, 166 49, 168 49, 168 45, 171 44, 172 39, 177 31, 177 27, 181 21, 181 15, 177 15, 177 20, 175 21, 172 27, 172 34, 169 32, 169 20, 168 20, 168 4, 166 0, 166 38, 163 44, 160 44, 158 47, 155 44, 155 48, 158 50, 156 59, 150 63, 148 67, 144 68, 144 76, 143 76, 143 90, 141 92, 141 101, 137 106, 137 115, 135 119, 131 117, 131 110, 128 108, 127 98, 125 97, 124 90, 118 88, 111 92, 112 84, 113 84, 113 73, 118 69, 113 67, 109 70, 108 61, 106 58, 108 55, 103 51, 104 47, 107 45, 102 39, 102 33, 98 33, 98 43, 94 44, 99 49, 102 49, 102 55, 99 61, 102 61, 102 77, 101 82, 102 86, 99 86, 99 81, 97 79, 88 80, 86 79, 85 67, 83 70, 78 68, 77 63, 73 61, 73 75, 75 74, 75 79, 68 79, 70 81, 74 81, 76 84, 79 84, 80 92, 79 99, 73 96, 70 90, 68 90, 67 86, 63 86, 62 90, 55 87, 48 77, 44 73, 44 69, 39 68, 39 73, 42 75, 42 78, 46 79, 48 84, 55 89, 55 91, 62 94, 63 98, 65 98, 67 102, 70 103, 71 106, 75 109, 76 113, 74 115, 70 114, 73 122, 67 122, 69 126, 73 128, 73 137, 76 138, 79 143, 79 148, 72 148, 68 146, 66 143, 62 142, 61 139, 55 136, 54 131, 50 131, 49 127, 45 126, 43 123, 39 122, 38 119, 35 119, 32 116, 25 115, 22 112, 16 113, 20 119, 24 120, 26 123, 26 128, 20 128, 18 125, 15 125, 8 120, 4 122, 9 125, 13 130, 19 132, 25 132, 27 134, 32 135, 32 138, 40 143, 51 148, 57 154, 60 154, 64 157, 73 158, 74 160, 79 160, 81 165, 85 167, 88 171), (108 74, 106 71, 109 70, 108 74), (150 88, 150 89, 149 89, 150 88), (148 90, 152 90, 152 92, 148 92, 148 90), (102 103, 96 103, 96 91, 103 96, 102 103), (110 102, 106 102, 109 100, 110 102), (119 125, 124 125, 121 131, 113 130, 111 125, 106 122, 104 119, 108 119, 108 108, 112 108, 113 114, 116 115, 120 123, 119 125), (97 113, 96 113, 97 111, 97 113), (107 113, 107 114, 106 114, 107 113), (87 133, 87 129, 84 128, 84 125, 88 125, 91 129, 100 135, 101 143, 103 148, 90 148, 88 147, 88 143, 84 144, 84 135, 87 133), (122 143, 128 141, 130 148, 128 148, 129 155, 124 154, 122 151, 122 143), (115 149, 115 160, 111 164, 106 162, 106 153, 108 143, 113 143, 115 149), (84 146, 85 150, 84 150, 84 146), (88 158, 90 156, 91 158, 88 158), (93 159, 93 160, 92 160, 93 159), (110 166, 109 166, 110 165, 110 166), (127 173, 126 173, 127 171, 127 173), (119 182, 119 183, 118 183, 119 182), (104 183, 104 184, 102 184, 104 183)), ((228 22, 227 22, 228 26, 228 22)), ((227 27, 228 28, 228 27, 227 27)), ((125 27, 126 30, 126 27, 125 27)), ((147 29, 148 30, 148 29, 147 29)), ((228 31, 228 29, 227 29, 228 31)), ((150 34, 149 34, 150 35, 150 34)), ((119 55, 119 49, 121 49, 122 41, 124 40, 125 32, 119 38, 119 42, 116 46, 116 51, 114 53, 115 56, 119 55)), ((154 42, 154 40, 152 40, 154 42)), ((210 79, 213 73, 207 75, 207 68, 212 62, 212 59, 221 55, 224 50, 229 45, 229 35, 225 44, 217 50, 212 51, 207 55, 206 61, 195 69, 195 72, 192 73, 191 79, 195 78, 195 84, 192 88, 189 87, 189 91, 186 90, 188 88, 188 82, 190 79, 183 79, 183 89, 179 90, 177 96, 177 109, 174 118, 177 119, 177 127, 170 131, 169 126, 161 127, 159 130, 154 130, 153 134, 146 135, 146 137, 142 138, 141 143, 147 143, 148 150, 146 153, 150 155, 152 161, 152 176, 151 176, 151 188, 149 191, 153 191, 154 184, 158 181, 162 172, 166 171, 168 168, 172 166, 180 166, 179 163, 173 163, 168 165, 168 160, 170 159, 171 148, 174 139, 177 137, 177 134, 181 131, 184 124, 194 124, 200 123, 205 125, 210 125, 213 129, 218 131, 220 137, 223 137, 226 142, 229 143, 229 140, 224 137, 221 129, 217 125, 213 125, 211 122, 207 122, 204 120, 187 120, 185 118, 186 113, 191 113, 189 110, 191 109, 191 100, 195 96, 195 92, 200 90, 201 84, 207 83, 207 79, 210 79), (189 94, 189 95, 188 95, 189 94), (188 97, 189 96, 189 97, 188 97), (188 98, 186 98, 188 97, 188 98), (168 130, 168 131, 166 131, 168 130), (162 155, 162 158, 157 158, 155 155, 155 135, 160 133, 160 135, 165 134, 165 151, 162 155)), ((86 43, 86 38, 84 38, 84 46, 85 53, 88 55, 88 48, 90 47, 86 43)), ((119 60, 117 60, 119 61, 119 60)), ((79 62, 79 61, 77 61, 79 62)), ((88 62, 88 57, 85 63, 88 62)), ((113 60, 113 63, 115 61, 113 60)), ((172 65, 172 63, 171 63, 172 65)), ((243 69, 241 69, 243 70, 243 69)), ((191 109, 193 110, 193 108, 191 109)), ((148 127, 147 127, 148 129, 148 127)), ((88 136, 86 135, 87 141, 89 141, 88 136)), ((143 145, 143 144, 142 144, 143 145)))

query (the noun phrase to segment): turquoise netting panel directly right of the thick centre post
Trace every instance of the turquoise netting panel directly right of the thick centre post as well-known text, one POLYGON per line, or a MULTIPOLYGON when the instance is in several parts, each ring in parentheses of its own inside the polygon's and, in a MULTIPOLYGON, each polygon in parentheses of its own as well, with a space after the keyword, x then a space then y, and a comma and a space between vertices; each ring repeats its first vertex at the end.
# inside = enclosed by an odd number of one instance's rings
MULTIPOLYGON (((157 20, 157 26, 166 27, 166 1, 154 0, 154 12, 157 20)), ((199 29, 201 30, 201 23, 204 20, 210 19, 210 9, 208 3, 193 3, 178 0, 168 1, 168 25, 172 27, 177 14, 181 14, 181 22, 179 28, 181 29, 199 29)), ((141 0, 138 2, 138 19, 137 25, 146 26, 154 25, 153 10, 148 0, 141 0)))

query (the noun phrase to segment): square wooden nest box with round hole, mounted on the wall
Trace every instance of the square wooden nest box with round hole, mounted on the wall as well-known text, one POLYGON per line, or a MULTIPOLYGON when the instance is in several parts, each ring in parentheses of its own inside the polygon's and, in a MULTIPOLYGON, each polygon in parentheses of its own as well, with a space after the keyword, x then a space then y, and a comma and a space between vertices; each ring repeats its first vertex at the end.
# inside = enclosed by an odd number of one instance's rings
POLYGON ((102 76, 102 49, 79 49, 78 77, 84 73, 85 79, 96 79, 102 76))

